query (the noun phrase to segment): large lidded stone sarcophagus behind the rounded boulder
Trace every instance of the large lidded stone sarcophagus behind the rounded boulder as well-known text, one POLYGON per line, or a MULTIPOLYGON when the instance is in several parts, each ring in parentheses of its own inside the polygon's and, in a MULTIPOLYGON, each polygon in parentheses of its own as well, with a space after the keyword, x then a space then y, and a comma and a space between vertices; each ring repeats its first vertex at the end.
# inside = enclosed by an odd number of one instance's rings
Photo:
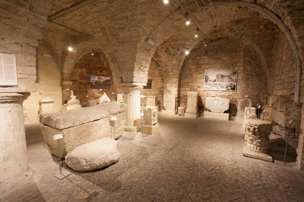
POLYGON ((61 157, 75 147, 102 137, 119 138, 124 130, 126 104, 115 101, 65 112, 41 114, 42 135, 51 154, 58 157, 58 143, 53 135, 62 133, 61 157), (117 117, 114 121, 112 117, 117 117))

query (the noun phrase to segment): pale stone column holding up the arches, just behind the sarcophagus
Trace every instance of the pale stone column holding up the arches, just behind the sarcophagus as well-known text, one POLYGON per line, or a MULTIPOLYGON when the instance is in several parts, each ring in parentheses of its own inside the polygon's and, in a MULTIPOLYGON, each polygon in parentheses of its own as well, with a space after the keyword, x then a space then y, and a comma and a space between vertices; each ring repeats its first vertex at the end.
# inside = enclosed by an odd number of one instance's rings
POLYGON ((140 91, 141 89, 124 89, 124 103, 127 104, 126 131, 137 132, 140 129, 140 91))

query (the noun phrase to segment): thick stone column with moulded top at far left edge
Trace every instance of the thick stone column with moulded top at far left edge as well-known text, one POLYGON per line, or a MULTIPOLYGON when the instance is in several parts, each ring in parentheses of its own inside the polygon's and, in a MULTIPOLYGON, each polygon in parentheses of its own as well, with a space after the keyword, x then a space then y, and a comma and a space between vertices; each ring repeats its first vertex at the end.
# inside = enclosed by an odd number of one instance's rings
POLYGON ((22 94, 0 93, 0 182, 27 169, 23 100, 22 94))

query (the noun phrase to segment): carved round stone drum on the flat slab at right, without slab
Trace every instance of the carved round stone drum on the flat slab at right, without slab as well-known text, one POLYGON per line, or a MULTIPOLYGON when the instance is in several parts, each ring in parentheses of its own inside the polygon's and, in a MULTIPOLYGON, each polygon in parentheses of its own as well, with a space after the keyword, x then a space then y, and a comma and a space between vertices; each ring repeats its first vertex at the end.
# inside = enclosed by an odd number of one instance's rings
POLYGON ((246 123, 247 147, 263 153, 267 152, 272 127, 273 123, 270 121, 248 119, 246 123))

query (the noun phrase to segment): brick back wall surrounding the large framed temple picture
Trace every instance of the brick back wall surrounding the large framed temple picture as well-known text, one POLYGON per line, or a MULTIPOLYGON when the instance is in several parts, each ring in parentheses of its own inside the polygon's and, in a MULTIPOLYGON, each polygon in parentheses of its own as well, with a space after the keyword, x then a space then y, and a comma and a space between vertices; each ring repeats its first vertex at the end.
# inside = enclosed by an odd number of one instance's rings
POLYGON ((236 116, 237 103, 248 95, 252 104, 260 103, 265 93, 266 78, 256 54, 237 41, 218 40, 198 49, 182 67, 181 106, 187 105, 187 91, 199 91, 199 111, 204 109, 205 97, 220 96, 230 99, 231 116, 236 116), (236 91, 204 90, 205 70, 238 70, 236 91))

